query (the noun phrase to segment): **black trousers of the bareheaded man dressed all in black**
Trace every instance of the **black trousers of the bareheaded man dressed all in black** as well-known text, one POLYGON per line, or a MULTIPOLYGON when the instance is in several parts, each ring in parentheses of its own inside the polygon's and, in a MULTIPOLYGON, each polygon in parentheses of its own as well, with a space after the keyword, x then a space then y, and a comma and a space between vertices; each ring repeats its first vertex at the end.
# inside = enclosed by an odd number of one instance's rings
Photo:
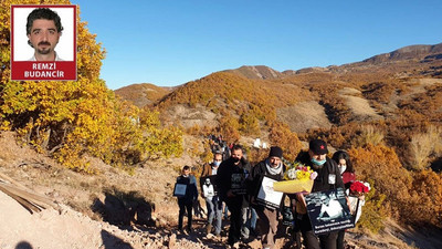
POLYGON ((229 229, 229 238, 228 243, 233 245, 240 240, 241 237, 241 226, 242 226, 242 196, 241 198, 233 197, 227 198, 225 204, 229 207, 230 211, 230 229, 229 229))

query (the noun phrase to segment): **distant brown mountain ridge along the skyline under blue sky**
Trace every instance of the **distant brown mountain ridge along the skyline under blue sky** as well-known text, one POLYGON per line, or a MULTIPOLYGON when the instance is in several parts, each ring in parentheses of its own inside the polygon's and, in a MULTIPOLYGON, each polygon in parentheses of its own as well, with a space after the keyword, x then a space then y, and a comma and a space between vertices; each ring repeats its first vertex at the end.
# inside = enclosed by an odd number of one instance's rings
MULTIPOLYGON (((442 75, 442 43, 438 43, 434 45, 409 45, 398 50, 394 50, 389 53, 378 54, 366 60, 359 62, 352 62, 348 64, 341 65, 329 65, 326 68, 320 66, 311 66, 304 68, 299 70, 285 70, 283 72, 278 72, 272 68, 265 65, 243 65, 238 69, 224 70, 218 73, 228 73, 234 74, 243 80, 239 79, 230 79, 229 76, 222 76, 222 84, 225 84, 225 81, 232 80, 233 82, 243 82, 244 79, 253 81, 253 84, 257 82, 267 82, 267 84, 273 85, 275 81, 284 80, 287 82, 295 81, 299 83, 308 83, 308 82, 328 82, 333 75, 348 75, 349 73, 359 73, 371 75, 370 77, 381 80, 383 75, 401 75, 403 76, 429 76, 429 77, 441 77, 442 75), (425 65, 424 65, 425 64, 425 65), (425 70, 423 70, 425 69, 425 70), (376 73, 373 73, 376 72, 376 73), (295 80, 297 79, 297 80, 295 80)), ((217 74, 217 72, 214 73, 217 74)), ((364 77, 366 77, 364 76, 364 77)), ((194 84, 202 84, 210 81, 210 77, 203 76, 200 80, 197 80, 189 84, 190 82, 178 85, 175 87, 160 87, 149 83, 143 84, 133 84, 115 91, 115 93, 122 96, 124 100, 127 100, 135 105, 143 107, 146 105, 155 105, 162 98, 170 98, 173 96, 170 93, 175 93, 176 90, 182 91, 194 91, 190 90, 194 84), (206 79, 206 80, 204 80, 206 79)), ((375 81, 375 80, 373 80, 375 81)), ((260 83, 260 84, 261 84, 260 83)), ((213 87, 217 85, 211 85, 207 87, 204 91, 209 91, 209 93, 200 93, 201 95, 211 95, 213 87)), ((274 86, 272 86, 274 87, 274 86)))

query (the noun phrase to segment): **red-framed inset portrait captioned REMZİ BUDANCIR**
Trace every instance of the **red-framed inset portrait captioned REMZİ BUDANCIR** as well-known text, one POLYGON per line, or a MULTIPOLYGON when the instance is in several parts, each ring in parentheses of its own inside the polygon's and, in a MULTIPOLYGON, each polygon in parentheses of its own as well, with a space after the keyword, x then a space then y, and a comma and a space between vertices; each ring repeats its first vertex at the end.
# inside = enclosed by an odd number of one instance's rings
POLYGON ((11 6, 11 80, 76 80, 76 6, 11 6))

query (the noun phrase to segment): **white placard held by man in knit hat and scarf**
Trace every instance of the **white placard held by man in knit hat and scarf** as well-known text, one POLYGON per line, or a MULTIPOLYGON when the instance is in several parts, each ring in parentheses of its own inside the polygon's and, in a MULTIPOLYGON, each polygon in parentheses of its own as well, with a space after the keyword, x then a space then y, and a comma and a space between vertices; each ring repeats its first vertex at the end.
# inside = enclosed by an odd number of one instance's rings
POLYGON ((275 191, 273 189, 273 183, 276 183, 276 181, 277 180, 274 180, 266 176, 263 177, 260 190, 256 196, 257 204, 260 204, 264 207, 267 207, 270 209, 280 208, 281 200, 283 198, 284 193, 275 191))

